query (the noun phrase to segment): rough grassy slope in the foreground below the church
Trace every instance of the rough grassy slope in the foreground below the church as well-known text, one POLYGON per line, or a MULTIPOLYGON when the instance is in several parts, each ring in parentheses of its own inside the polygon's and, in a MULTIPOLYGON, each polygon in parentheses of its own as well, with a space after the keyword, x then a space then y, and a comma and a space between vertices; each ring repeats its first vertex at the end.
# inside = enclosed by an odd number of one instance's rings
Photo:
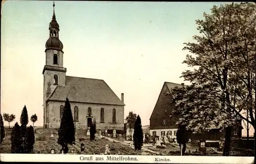
MULTIPOLYGON (((1 144, 1 153, 11 153, 10 137, 10 134, 8 134, 1 144)), ((51 138, 51 134, 36 134, 33 153, 50 154, 52 146, 55 149, 55 153, 60 153, 61 147, 57 144, 57 139, 58 135, 54 135, 54 138, 51 138)), ((84 135, 76 135, 75 145, 69 145, 69 153, 71 153, 71 150, 73 150, 74 153, 80 154, 81 143, 85 145, 84 154, 102 154, 105 152, 105 145, 108 144, 109 148, 111 149, 111 154, 153 155, 143 151, 137 152, 127 145, 111 142, 104 138, 101 140, 90 141, 90 137, 84 135)))

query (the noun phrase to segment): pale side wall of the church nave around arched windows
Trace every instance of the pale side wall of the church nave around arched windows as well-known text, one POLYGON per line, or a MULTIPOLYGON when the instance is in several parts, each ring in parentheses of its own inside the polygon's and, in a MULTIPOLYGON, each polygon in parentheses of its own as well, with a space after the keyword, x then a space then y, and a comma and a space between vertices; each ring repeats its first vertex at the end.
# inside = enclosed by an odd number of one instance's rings
MULTIPOLYGON (((74 103, 71 102, 72 116, 74 119, 74 107, 78 107, 78 122, 75 122, 77 129, 86 129, 88 107, 92 108, 92 115, 96 120, 97 129, 122 129, 124 120, 124 106, 106 105, 106 104, 89 104, 89 103, 74 103), (100 109, 104 108, 104 123, 100 123, 100 109), (116 109, 116 123, 112 123, 112 111, 116 109)), ((49 102, 49 128, 59 128, 60 125, 60 105, 65 105, 65 102, 49 102)))

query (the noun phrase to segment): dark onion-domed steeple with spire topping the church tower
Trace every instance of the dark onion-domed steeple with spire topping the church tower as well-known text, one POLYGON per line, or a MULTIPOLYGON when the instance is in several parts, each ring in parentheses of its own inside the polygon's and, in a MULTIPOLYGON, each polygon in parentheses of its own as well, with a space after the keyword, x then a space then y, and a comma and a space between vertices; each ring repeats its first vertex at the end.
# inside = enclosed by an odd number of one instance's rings
POLYGON ((56 50, 62 51, 63 44, 59 40, 59 24, 57 23, 57 20, 56 20, 54 7, 55 7, 55 4, 53 2, 52 21, 49 24, 50 36, 46 42, 46 50, 47 49, 56 49, 56 50))

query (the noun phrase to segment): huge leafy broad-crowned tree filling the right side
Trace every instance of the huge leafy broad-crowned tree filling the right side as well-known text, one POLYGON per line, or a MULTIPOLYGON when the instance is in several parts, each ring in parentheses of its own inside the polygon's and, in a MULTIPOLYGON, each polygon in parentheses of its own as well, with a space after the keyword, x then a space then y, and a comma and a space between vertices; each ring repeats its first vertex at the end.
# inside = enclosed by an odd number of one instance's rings
POLYGON ((253 3, 226 4, 214 6, 211 14, 203 14, 204 20, 196 20, 200 36, 183 48, 196 56, 187 55, 183 62, 195 68, 182 73, 192 85, 171 93, 174 113, 183 116, 179 123, 194 131, 225 129, 223 155, 229 155, 237 116, 254 127, 255 13, 253 3), (242 115, 247 109, 250 119, 242 115))

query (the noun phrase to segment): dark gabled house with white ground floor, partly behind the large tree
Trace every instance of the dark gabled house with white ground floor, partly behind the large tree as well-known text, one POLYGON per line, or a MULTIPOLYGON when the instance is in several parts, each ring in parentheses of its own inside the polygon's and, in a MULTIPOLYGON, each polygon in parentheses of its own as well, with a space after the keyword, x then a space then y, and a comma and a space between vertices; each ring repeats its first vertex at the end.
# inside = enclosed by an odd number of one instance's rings
MULTIPOLYGON (((170 100, 172 100, 172 95, 166 95, 166 93, 170 92, 170 90, 175 87, 183 86, 185 86, 183 83, 180 85, 175 83, 164 82, 156 105, 150 117, 151 135, 164 136, 165 134, 168 134, 171 138, 176 138, 176 132, 178 130, 178 125, 176 124, 176 122, 179 121, 179 118, 181 118, 181 116, 169 116, 169 114, 174 110, 175 106, 173 103, 170 103, 170 100)), ((241 125, 241 119, 239 120, 240 121, 238 123, 238 126, 234 126, 232 128, 232 141, 241 139, 243 127, 241 125)), ((191 134, 190 139, 191 141, 203 139, 209 142, 219 142, 221 140, 225 140, 224 134, 225 132, 220 130, 219 127, 212 127, 207 132, 200 134, 191 134)))

